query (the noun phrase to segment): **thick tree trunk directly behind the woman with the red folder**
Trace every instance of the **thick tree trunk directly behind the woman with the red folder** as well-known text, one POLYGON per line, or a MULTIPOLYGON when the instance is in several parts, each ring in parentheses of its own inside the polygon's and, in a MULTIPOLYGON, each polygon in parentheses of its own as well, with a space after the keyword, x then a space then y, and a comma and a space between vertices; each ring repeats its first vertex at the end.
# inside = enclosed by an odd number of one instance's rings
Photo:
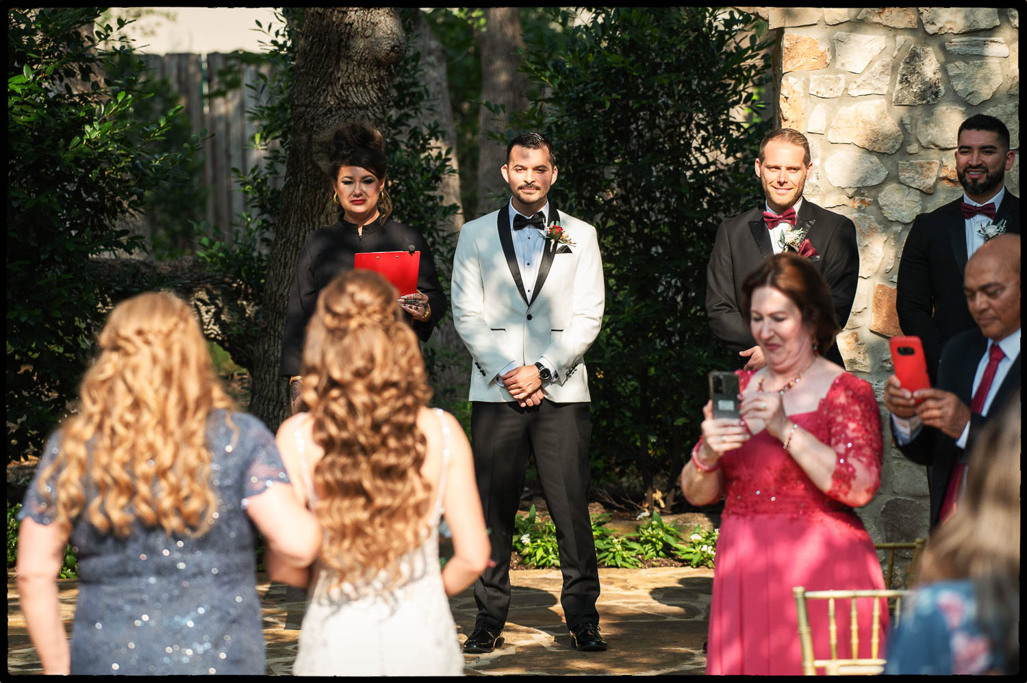
POLYGON ((272 430, 289 415, 278 376, 289 287, 307 234, 336 220, 328 179, 328 143, 348 120, 380 125, 407 37, 389 7, 304 11, 293 85, 281 213, 268 264, 261 338, 255 353, 250 412, 272 430))

